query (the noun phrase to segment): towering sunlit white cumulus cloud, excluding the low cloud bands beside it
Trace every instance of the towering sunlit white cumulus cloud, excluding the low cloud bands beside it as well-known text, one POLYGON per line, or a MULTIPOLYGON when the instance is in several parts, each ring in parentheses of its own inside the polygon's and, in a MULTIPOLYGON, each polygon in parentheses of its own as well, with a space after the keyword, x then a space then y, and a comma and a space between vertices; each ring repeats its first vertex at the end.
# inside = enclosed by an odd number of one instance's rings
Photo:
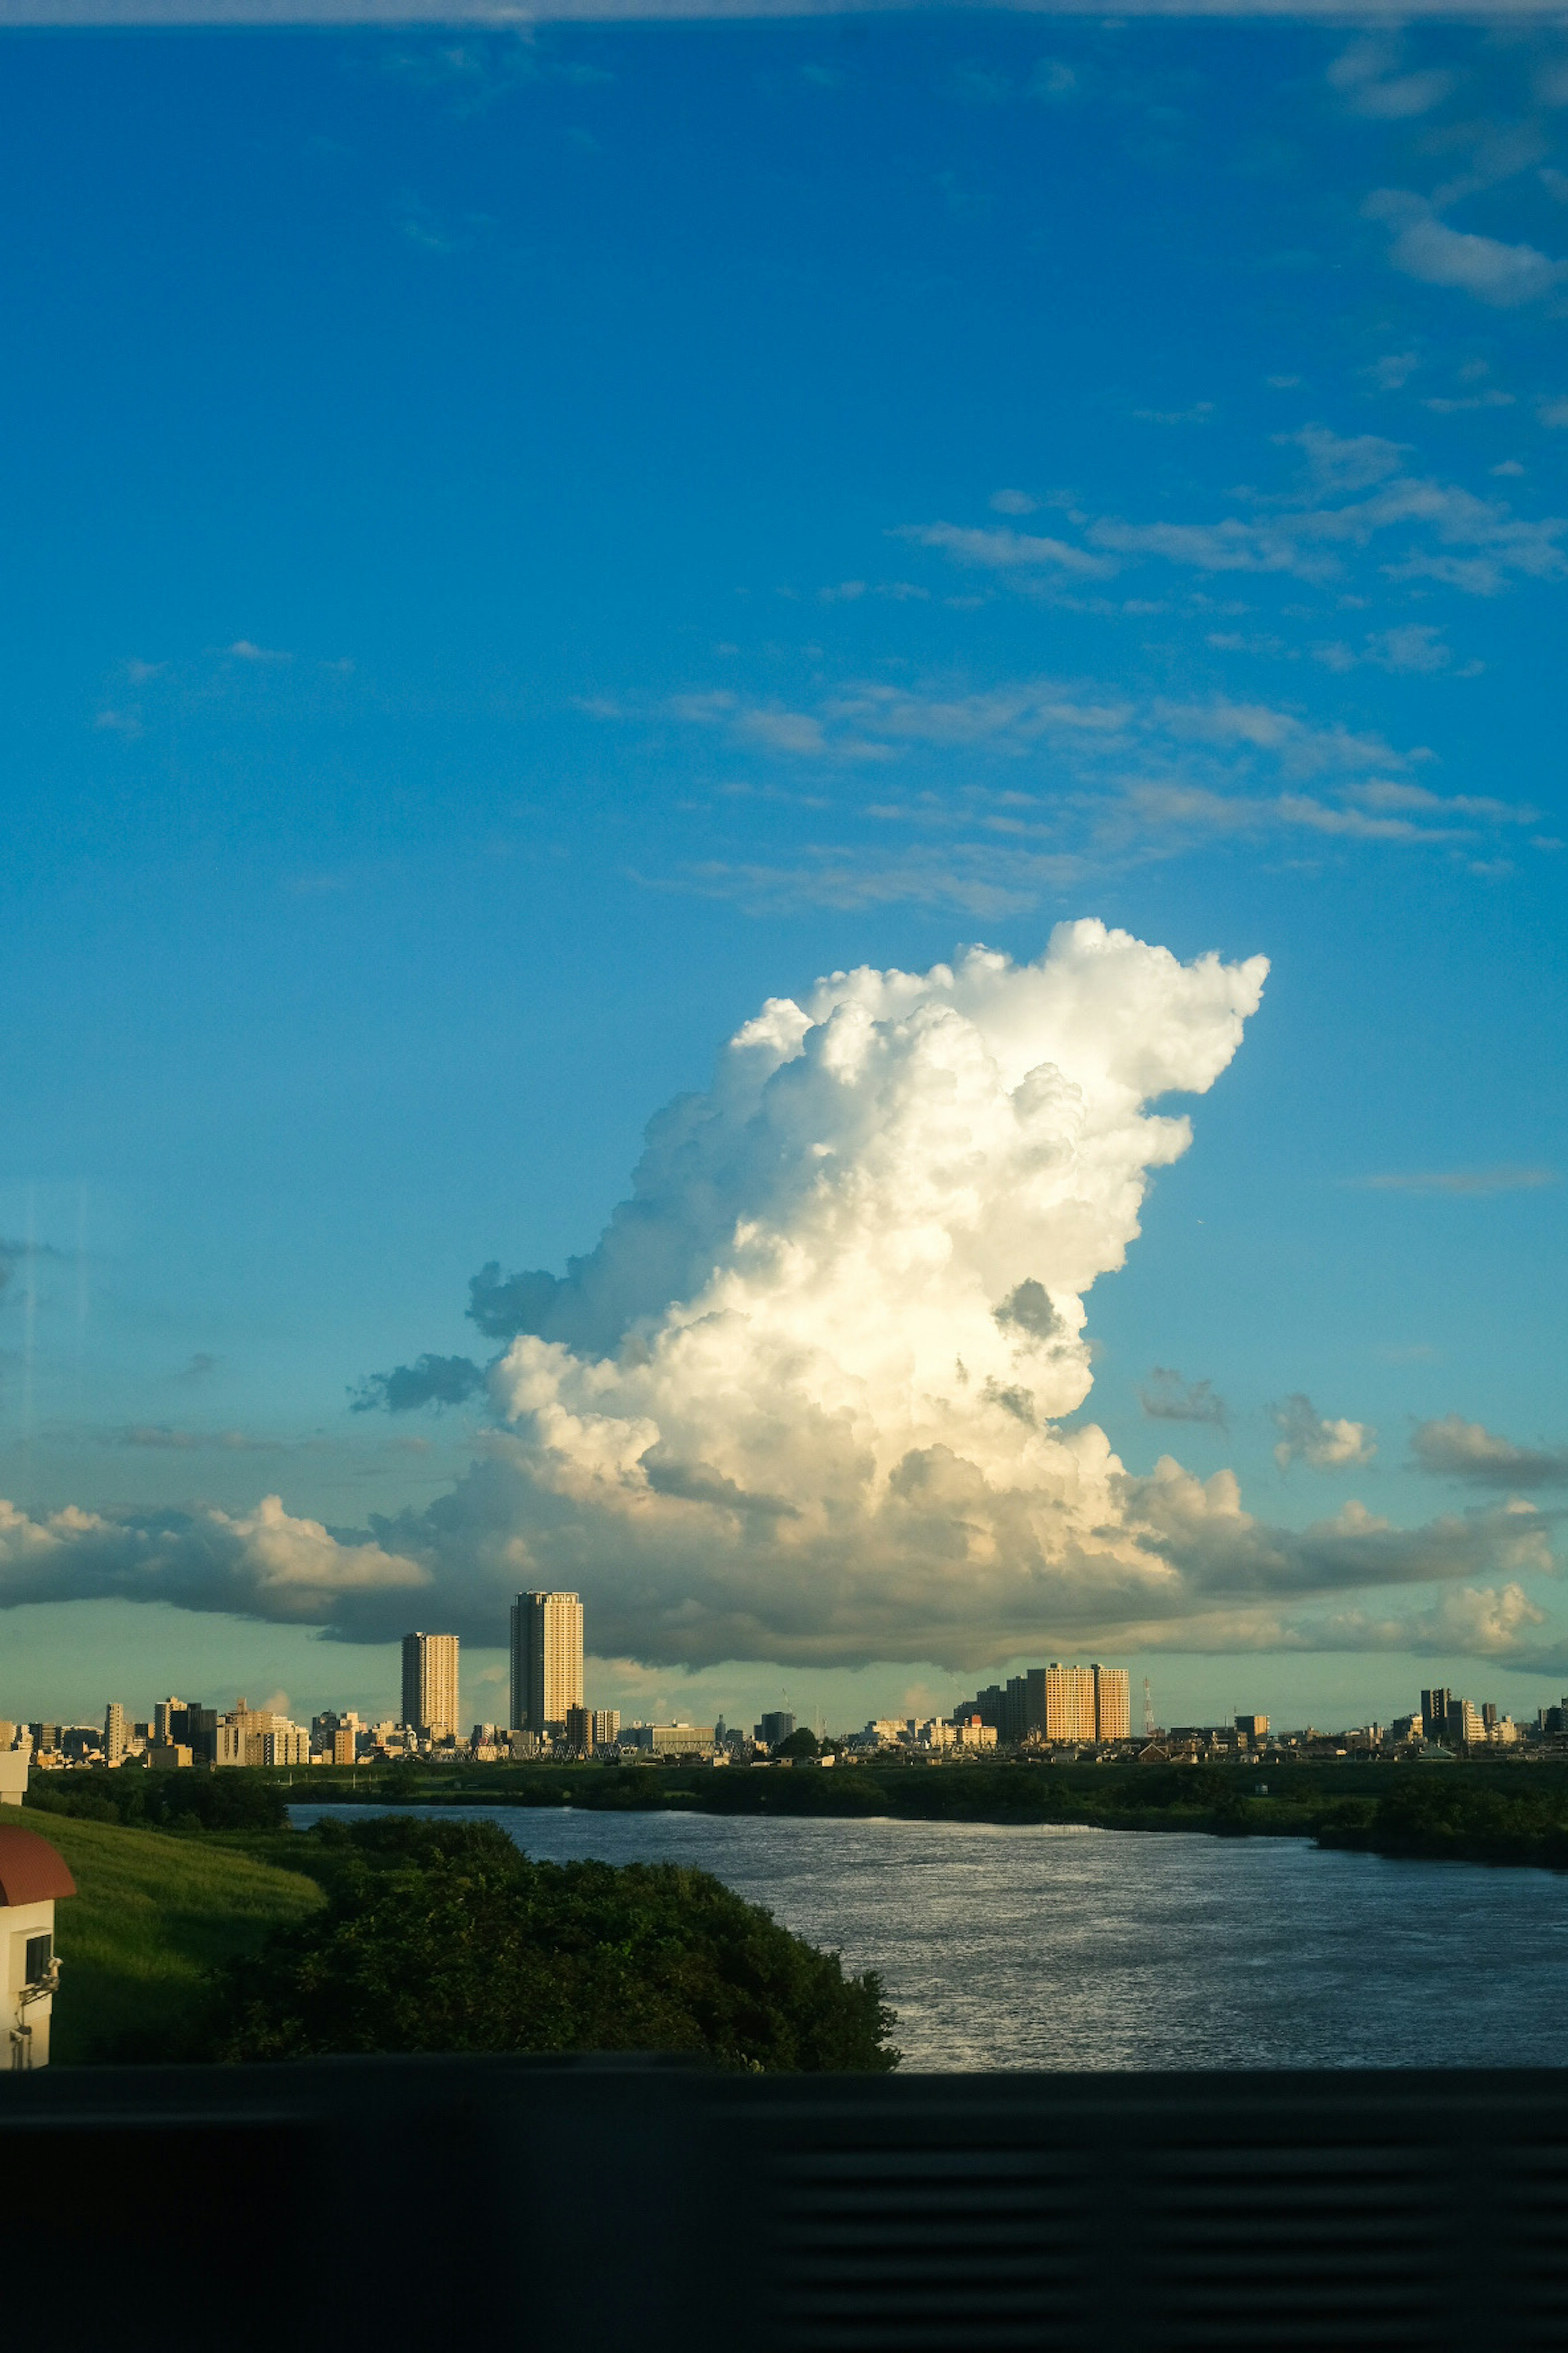
POLYGON ((1053 1424, 1091 1388, 1084 1292, 1190 1144, 1147 1106, 1213 1085, 1265 972, 1077 922, 1034 965, 771 1000, 538 1318, 616 1346, 512 1341, 451 1518, 498 1508, 656 1657, 966 1664, 1088 1593, 1159 1607, 1105 1435, 1053 1424))

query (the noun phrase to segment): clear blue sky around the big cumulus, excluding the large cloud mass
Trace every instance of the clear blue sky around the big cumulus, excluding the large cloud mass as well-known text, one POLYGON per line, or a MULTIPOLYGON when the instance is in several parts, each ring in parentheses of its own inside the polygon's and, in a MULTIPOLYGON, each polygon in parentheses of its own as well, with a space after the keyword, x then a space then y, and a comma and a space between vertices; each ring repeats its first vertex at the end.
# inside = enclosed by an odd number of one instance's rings
MULTIPOLYGON (((1070 1421, 1284 1529, 1516 1475, 1554 1537, 1561 33, 14 33, 7 68, 16 1513, 423 1513, 487 1414, 355 1391, 482 1360, 470 1275, 590 1252, 766 998, 1093 915, 1272 972, 1088 1292, 1070 1421), (1446 1417, 1516 1461, 1413 1452, 1446 1417)), ((383 1640, 54 1591, 0 1621, 14 1713, 393 1699, 383 1640)), ((1521 1591, 1453 1647, 1119 1654, 1171 1715, 1533 1711, 1568 1642, 1521 1591)), ((907 1659, 599 1680, 957 1697, 907 1659)))

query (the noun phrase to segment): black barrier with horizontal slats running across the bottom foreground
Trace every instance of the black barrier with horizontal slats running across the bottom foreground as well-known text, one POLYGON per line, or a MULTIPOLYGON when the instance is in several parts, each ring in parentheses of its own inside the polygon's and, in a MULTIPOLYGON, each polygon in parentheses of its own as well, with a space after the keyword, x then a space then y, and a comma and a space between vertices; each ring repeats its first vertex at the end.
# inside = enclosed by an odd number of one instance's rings
POLYGON ((1568 2073, 0 2082, 12 2344, 562 2353, 1568 2341, 1568 2073))

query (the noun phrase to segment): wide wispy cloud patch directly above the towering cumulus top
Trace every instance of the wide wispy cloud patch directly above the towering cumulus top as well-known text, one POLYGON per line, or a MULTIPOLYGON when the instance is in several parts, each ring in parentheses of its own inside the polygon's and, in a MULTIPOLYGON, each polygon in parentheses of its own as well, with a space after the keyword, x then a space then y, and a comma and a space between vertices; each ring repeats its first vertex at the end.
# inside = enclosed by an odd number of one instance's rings
POLYGON ((1432 762, 1422 746, 1234 696, 1140 699, 1039 678, 978 689, 858 680, 823 685, 804 708, 724 689, 614 718, 719 732, 752 760, 806 774, 809 791, 724 781, 717 800, 816 809, 816 840, 783 854, 715 845, 675 875, 639 871, 752 908, 905 899, 990 915, 1091 873, 1267 840, 1312 856, 1439 849, 1495 873, 1500 845, 1537 824, 1530 805, 1420 781, 1432 762), (886 835, 905 840, 891 847, 886 835))

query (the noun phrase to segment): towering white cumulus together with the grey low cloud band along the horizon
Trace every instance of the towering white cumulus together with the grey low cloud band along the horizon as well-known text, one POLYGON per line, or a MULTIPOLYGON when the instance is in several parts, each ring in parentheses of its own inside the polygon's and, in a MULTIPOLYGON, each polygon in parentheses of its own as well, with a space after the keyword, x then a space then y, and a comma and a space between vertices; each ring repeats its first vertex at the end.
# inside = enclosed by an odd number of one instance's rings
MULTIPOLYGON (((595 1252, 564 1278, 477 1280, 475 1320, 505 1353, 447 1497, 353 1534, 275 1497, 240 1518, 0 1506, 0 1600, 113 1593, 355 1640, 418 1617, 496 1642, 510 1593, 569 1586, 595 1652, 693 1668, 966 1673, 1112 1640, 1441 1635, 1505 1657, 1542 1617, 1519 1577, 1552 1567, 1547 1520, 1516 1494, 1418 1529, 1356 1501, 1276 1529, 1229 1471, 1197 1480, 1164 1457, 1138 1478, 1095 1424, 1063 1426, 1093 1379, 1084 1294, 1124 1264, 1150 1172, 1190 1144, 1150 1106, 1220 1078, 1265 972, 1070 922, 1032 965, 976 948, 773 998, 710 1092, 651 1122, 595 1252), (1443 1591, 1385 1614, 1366 1595, 1387 1586, 1443 1591)), ((425 1358, 371 1395, 414 1402, 430 1365, 433 1400, 484 1386, 425 1358)), ((1305 1398, 1286 1414, 1307 1468, 1366 1461, 1359 1424, 1305 1398)), ((1199 1419, 1187 1391, 1178 1419, 1199 1419)), ((1488 1480, 1500 1468, 1488 1457, 1488 1480)))

